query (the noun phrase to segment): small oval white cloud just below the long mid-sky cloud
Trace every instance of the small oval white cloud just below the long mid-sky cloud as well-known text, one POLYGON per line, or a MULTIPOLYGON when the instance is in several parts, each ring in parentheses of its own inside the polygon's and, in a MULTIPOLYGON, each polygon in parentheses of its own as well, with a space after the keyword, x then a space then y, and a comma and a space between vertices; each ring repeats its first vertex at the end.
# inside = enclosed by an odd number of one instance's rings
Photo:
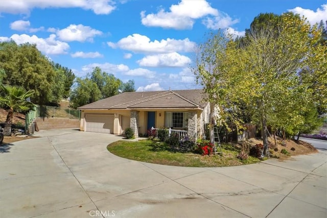
POLYGON ((137 63, 140 66, 149 67, 183 67, 191 63, 191 59, 173 52, 168 54, 148 55, 138 60, 137 63))

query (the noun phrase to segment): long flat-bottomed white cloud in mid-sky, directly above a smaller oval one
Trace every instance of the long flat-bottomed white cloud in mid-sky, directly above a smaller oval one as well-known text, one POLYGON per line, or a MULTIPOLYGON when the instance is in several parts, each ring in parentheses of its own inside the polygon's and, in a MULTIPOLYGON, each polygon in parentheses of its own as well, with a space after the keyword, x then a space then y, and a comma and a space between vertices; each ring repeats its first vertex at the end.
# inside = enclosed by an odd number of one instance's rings
POLYGON ((117 43, 107 42, 108 46, 115 49, 120 47, 136 53, 171 53, 171 52, 193 52, 196 45, 190 39, 161 39, 151 41, 149 37, 133 34, 122 38, 117 43))

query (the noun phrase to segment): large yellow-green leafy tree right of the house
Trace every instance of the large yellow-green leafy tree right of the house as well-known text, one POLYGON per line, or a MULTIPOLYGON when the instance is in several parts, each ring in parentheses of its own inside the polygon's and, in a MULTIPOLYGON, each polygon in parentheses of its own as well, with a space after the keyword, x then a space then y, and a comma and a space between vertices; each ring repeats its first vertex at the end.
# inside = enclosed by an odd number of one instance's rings
POLYGON ((271 24, 269 19, 260 28, 247 31, 243 40, 221 33, 210 37, 200 47, 193 68, 211 101, 219 105, 220 121, 241 124, 239 114, 244 107, 240 106, 246 104, 252 122, 262 127, 264 152, 268 149, 268 126, 300 126, 305 122, 301 111, 319 103, 325 108, 312 94, 326 98, 319 90, 326 81, 326 47, 318 43, 321 29, 291 13, 271 24), (299 72, 307 68, 319 85, 310 80, 310 74, 308 79, 301 77, 299 72))

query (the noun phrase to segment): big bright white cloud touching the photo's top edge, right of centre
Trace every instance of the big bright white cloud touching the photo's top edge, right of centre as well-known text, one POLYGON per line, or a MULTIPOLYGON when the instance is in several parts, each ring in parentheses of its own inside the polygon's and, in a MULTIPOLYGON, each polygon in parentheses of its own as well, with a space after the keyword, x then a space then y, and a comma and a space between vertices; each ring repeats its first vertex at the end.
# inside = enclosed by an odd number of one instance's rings
POLYGON ((170 12, 160 9, 156 14, 141 12, 142 24, 148 27, 173 28, 177 30, 192 29, 194 19, 207 15, 216 16, 218 10, 212 8, 206 1, 181 0, 178 5, 172 5, 170 12))

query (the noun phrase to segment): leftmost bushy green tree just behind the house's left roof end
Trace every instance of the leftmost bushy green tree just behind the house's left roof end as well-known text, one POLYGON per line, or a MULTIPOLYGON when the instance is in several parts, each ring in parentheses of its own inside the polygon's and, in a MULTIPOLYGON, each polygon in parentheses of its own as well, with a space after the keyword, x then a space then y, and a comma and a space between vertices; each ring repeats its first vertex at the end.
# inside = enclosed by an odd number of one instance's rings
POLYGON ((71 93, 71 106, 80 107, 101 99, 101 91, 97 84, 89 78, 76 79, 76 87, 71 93))

